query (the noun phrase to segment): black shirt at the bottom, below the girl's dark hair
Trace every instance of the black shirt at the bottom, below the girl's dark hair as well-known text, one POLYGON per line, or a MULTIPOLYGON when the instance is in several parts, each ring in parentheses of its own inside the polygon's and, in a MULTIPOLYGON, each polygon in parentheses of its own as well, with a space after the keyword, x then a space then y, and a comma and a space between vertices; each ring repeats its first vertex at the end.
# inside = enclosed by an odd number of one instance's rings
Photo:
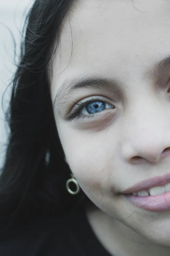
POLYGON ((0 241, 0 255, 110 256, 92 231, 82 206, 68 216, 38 225, 39 233, 37 229, 22 227, 0 241))

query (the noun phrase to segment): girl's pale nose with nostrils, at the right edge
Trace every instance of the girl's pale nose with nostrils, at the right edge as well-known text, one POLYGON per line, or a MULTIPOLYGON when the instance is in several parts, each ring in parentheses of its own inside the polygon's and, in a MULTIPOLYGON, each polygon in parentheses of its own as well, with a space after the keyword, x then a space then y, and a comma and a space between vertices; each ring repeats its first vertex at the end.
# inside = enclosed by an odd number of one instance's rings
MULTIPOLYGON (((164 158, 170 161, 170 114, 155 109, 131 112, 122 141, 122 156, 133 164, 158 163, 164 158), (134 121, 133 121, 134 120, 134 121)), ((168 112, 167 112, 168 113, 168 112)))

